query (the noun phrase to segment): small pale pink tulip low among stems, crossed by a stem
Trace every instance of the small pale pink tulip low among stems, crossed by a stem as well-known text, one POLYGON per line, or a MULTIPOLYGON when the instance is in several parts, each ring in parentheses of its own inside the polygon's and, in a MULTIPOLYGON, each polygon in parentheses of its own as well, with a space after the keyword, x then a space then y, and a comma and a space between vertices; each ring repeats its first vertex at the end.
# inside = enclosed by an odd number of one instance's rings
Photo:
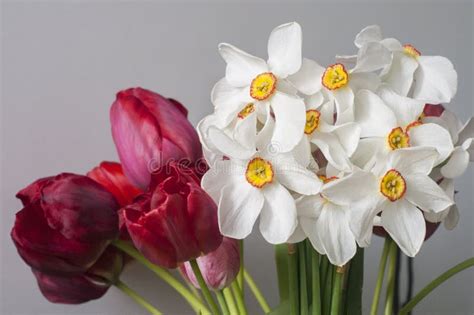
MULTIPOLYGON (((239 273, 239 244, 234 239, 224 237, 221 246, 199 257, 197 263, 207 286, 213 290, 221 290, 229 286, 239 273)), ((189 262, 181 265, 180 271, 196 288, 200 288, 189 262)))

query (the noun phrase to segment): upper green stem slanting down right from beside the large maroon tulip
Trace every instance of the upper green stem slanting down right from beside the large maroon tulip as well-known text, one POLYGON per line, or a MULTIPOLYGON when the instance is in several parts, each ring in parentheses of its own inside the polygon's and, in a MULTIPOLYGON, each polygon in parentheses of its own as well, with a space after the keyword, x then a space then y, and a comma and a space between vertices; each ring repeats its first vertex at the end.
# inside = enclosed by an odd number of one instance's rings
POLYGON ((175 277, 173 277, 173 275, 171 275, 168 270, 151 263, 128 242, 116 240, 112 244, 121 251, 128 254, 130 257, 134 258, 136 261, 138 261, 145 267, 147 267, 148 269, 150 269, 163 281, 168 283, 168 285, 175 289, 189 303, 189 305, 193 307, 193 309, 200 309, 202 313, 206 314, 210 313, 209 309, 198 298, 196 298, 193 293, 189 291, 181 282, 179 282, 175 277))

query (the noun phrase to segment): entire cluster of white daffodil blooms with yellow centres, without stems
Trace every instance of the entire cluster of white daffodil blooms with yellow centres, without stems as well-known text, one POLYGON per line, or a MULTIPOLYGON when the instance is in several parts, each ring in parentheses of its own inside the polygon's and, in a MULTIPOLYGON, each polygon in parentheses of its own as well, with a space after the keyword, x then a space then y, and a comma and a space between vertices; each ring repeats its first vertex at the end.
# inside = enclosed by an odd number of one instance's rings
POLYGON ((426 222, 454 228, 453 179, 473 157, 474 124, 427 105, 454 97, 452 63, 383 38, 378 26, 355 46, 322 66, 302 58, 297 23, 272 31, 267 61, 219 45, 225 77, 198 130, 210 165, 202 186, 222 234, 243 239, 259 218, 269 243, 308 238, 341 266, 374 226, 408 256, 426 222))

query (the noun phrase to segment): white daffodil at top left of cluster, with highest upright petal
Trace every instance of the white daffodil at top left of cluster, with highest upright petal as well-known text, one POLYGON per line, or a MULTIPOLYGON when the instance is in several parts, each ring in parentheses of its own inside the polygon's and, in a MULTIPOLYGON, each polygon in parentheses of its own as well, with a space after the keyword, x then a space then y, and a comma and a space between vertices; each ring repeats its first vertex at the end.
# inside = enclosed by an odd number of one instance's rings
MULTIPOLYGON (((286 78, 301 67, 301 27, 298 23, 275 28, 268 40, 268 61, 254 57, 230 44, 220 44, 219 53, 227 63, 225 78, 214 86, 211 99, 218 128, 232 125, 236 117, 267 113, 276 120, 272 142, 280 150, 293 149, 303 136, 303 100, 286 78)), ((253 118, 252 118, 253 119, 253 118)))

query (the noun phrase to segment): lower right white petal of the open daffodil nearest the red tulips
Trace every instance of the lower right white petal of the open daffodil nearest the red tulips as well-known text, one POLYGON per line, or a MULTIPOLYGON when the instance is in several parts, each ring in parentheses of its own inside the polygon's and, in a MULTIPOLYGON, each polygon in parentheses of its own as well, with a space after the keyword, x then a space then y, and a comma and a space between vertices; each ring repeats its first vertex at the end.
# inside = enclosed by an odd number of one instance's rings
POLYGON ((265 203, 260 214, 260 232, 270 244, 285 243, 298 224, 295 201, 275 182, 263 189, 265 203))

